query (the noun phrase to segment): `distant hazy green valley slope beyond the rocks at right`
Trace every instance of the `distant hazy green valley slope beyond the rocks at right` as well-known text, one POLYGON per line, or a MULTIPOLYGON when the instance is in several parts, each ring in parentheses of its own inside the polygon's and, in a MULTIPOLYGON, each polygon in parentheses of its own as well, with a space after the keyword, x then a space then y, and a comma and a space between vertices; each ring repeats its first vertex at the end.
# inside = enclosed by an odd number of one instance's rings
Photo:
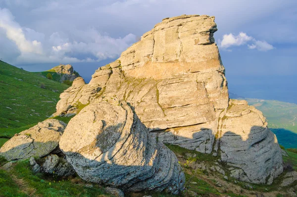
POLYGON ((247 99, 267 118, 268 127, 285 148, 297 148, 297 104, 278 100, 247 99))

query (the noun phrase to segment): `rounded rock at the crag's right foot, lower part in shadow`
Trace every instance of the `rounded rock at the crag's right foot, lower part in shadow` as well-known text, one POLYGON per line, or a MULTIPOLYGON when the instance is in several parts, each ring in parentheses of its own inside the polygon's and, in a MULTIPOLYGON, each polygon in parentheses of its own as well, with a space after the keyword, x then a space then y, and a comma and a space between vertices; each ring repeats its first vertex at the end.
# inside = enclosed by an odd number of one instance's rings
POLYGON ((245 100, 230 100, 224 114, 219 122, 217 148, 223 162, 238 168, 231 171, 231 176, 271 184, 283 172, 283 159, 265 117, 245 100))

